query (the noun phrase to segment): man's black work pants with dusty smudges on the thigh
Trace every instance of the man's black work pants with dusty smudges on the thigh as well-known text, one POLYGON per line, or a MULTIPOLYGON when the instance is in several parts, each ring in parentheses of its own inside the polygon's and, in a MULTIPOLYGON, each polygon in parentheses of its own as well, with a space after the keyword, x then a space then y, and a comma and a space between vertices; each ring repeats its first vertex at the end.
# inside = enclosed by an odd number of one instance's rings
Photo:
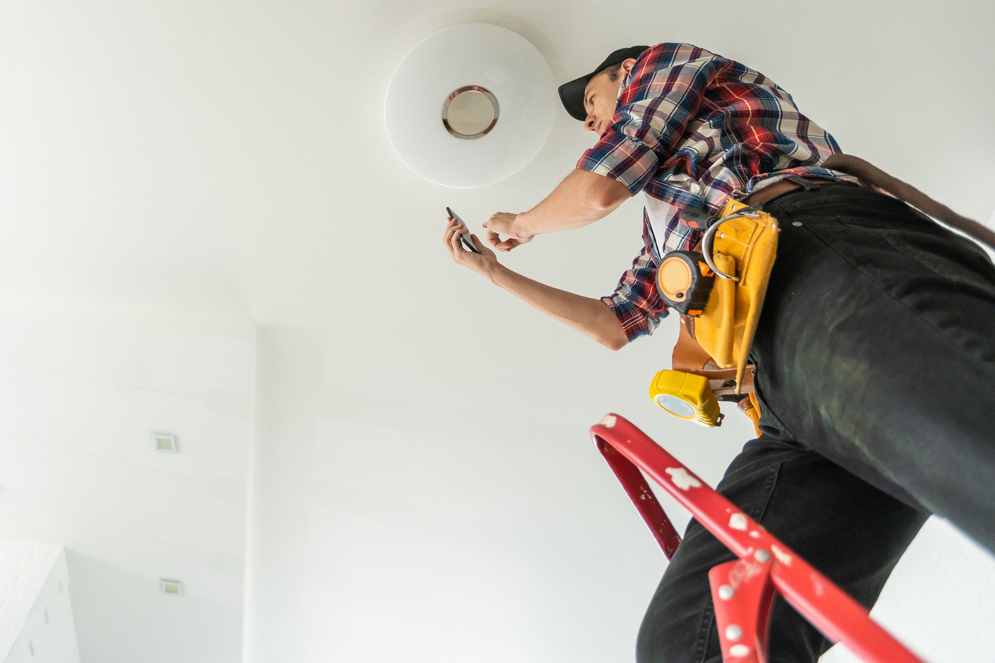
MULTIPOLYGON (((995 268, 870 189, 765 206, 781 228, 752 359, 761 436, 722 495, 867 607, 929 514, 995 551, 995 268)), ((640 663, 721 661, 707 571, 734 558, 692 521, 640 629, 640 663)), ((775 601, 770 660, 831 643, 775 601)))

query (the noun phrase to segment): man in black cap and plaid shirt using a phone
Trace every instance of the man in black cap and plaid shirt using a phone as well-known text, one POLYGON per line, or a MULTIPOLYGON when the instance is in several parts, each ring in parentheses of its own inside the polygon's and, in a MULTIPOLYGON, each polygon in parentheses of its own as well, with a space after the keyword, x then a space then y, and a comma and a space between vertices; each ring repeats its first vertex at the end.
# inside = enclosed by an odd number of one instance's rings
MULTIPOLYGON (((820 167, 839 152, 833 137, 772 81, 703 49, 616 51, 560 97, 597 143, 533 209, 492 216, 488 239, 510 251, 643 192, 643 247, 631 269, 611 296, 573 295, 511 272, 493 251, 464 251, 450 222, 453 259, 618 349, 668 313, 656 266, 701 232, 680 212, 715 214, 730 195, 762 204, 781 228, 750 354, 762 434, 718 490, 868 607, 929 514, 995 550, 987 255, 820 167)), ((640 629, 639 661, 721 660, 706 573, 731 558, 691 523, 640 629)), ((781 599, 771 624, 771 661, 814 662, 830 645, 781 599)))

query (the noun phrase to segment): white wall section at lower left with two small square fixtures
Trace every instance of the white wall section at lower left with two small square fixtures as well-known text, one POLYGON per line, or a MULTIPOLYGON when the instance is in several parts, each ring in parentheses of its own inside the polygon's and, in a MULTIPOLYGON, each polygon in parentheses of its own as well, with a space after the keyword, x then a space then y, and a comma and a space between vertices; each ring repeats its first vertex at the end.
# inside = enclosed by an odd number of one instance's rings
POLYGON ((0 307, 0 536, 69 550, 84 663, 239 660, 250 333, 0 307))

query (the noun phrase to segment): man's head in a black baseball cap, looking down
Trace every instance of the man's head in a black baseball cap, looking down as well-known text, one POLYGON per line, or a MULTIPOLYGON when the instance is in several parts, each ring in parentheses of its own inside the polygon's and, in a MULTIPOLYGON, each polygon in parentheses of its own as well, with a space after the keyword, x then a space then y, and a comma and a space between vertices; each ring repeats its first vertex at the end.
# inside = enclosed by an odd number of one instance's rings
POLYGON ((584 122, 584 128, 602 133, 615 114, 619 86, 649 46, 632 46, 613 52, 586 76, 559 87, 560 101, 570 115, 584 122))

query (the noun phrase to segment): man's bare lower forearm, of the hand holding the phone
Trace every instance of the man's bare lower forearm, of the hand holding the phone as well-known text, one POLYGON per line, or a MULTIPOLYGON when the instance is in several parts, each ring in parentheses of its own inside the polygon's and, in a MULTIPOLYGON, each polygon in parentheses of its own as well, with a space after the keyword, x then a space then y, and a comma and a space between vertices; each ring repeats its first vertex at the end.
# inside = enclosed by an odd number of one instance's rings
POLYGON ((601 300, 546 286, 499 264, 487 276, 493 284, 536 311, 580 331, 610 349, 619 349, 629 342, 615 314, 601 300))

